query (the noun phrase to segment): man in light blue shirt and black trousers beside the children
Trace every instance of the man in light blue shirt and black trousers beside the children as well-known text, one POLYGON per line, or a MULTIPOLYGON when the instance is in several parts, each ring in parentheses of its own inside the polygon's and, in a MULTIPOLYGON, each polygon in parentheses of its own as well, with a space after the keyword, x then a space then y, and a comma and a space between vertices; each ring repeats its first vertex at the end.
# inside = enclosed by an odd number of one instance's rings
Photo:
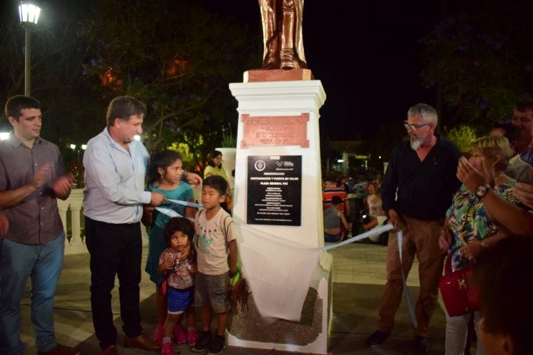
MULTIPOLYGON (((162 194, 144 191, 149 154, 141 141, 146 109, 130 96, 113 99, 107 127, 87 143, 83 156, 85 241, 90 252, 91 307, 94 330, 103 355, 117 355, 117 329, 113 325, 111 290, 119 278, 124 347, 158 349, 142 334, 139 311, 142 205, 161 205, 162 194)), ((187 174, 192 184, 201 178, 187 174)))

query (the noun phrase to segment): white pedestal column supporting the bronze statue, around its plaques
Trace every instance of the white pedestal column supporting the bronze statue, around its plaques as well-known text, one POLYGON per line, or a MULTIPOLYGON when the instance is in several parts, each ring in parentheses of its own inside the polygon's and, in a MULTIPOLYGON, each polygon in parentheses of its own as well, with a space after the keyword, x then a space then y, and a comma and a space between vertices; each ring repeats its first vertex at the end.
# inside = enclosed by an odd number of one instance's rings
MULTIPOLYGON (((268 340, 264 340, 268 338, 264 334, 269 333, 268 327, 276 327, 275 324, 269 324, 266 326, 267 329, 257 331, 257 334, 247 334, 246 337, 242 338, 239 338, 237 328, 233 333, 232 329, 228 329, 228 344, 237 347, 278 349, 308 354, 327 354, 328 334, 332 315, 330 297, 332 257, 327 252, 320 252, 324 241, 319 135, 319 110, 325 101, 325 92, 319 80, 232 83, 230 84, 230 90, 239 103, 237 107, 237 111, 239 112, 239 125, 237 130, 235 189, 232 212, 235 227, 239 232, 239 255, 243 261, 245 276, 250 279, 251 272, 247 276, 247 270, 256 268, 256 266, 259 266, 262 270, 277 272, 278 279, 285 279, 286 275, 292 275, 292 277, 294 275, 301 276, 296 282, 292 284, 289 282, 290 285, 286 285, 290 286, 291 289, 293 286, 296 286, 295 289, 298 288, 298 292, 294 293, 295 298, 298 298, 296 297, 296 293, 301 295, 302 290, 304 293, 307 293, 310 288, 313 288, 318 293, 318 302, 321 302, 321 304, 316 306, 316 309, 307 309, 307 311, 314 312, 316 319, 319 319, 321 324, 321 327, 319 327, 321 330, 319 331, 317 328, 317 333, 313 334, 312 340, 309 340, 307 343, 299 341, 300 339, 298 337, 302 336, 302 334, 298 334, 296 330, 294 330, 294 334, 285 334, 284 339, 286 340, 281 342, 272 340, 269 343, 268 340), (276 141, 275 144, 272 144, 270 141, 270 145, 253 144, 243 147, 242 141, 246 138, 248 140, 252 138, 245 137, 244 135, 243 115, 245 115, 246 119, 264 118, 268 121, 278 121, 280 117, 287 120, 287 117, 308 115, 309 121, 303 127, 299 128, 300 130, 305 130, 305 141, 308 141, 308 145, 294 143, 291 143, 292 145, 279 144, 280 141, 285 140, 274 139, 276 141), (271 119, 273 117, 277 119, 271 119), (301 189, 301 201, 298 206, 301 209, 301 225, 279 225, 276 223, 271 225, 247 224, 248 157, 263 155, 268 157, 301 156, 301 181, 299 185, 301 189), (256 245, 255 249, 254 245, 256 245), (295 248, 293 249, 293 255, 306 254, 307 252, 310 254, 314 253, 314 261, 305 263, 305 265, 296 265, 290 256, 280 257, 280 255, 287 255, 286 245, 291 245, 290 248, 295 248), (276 250, 278 251, 277 253, 276 250), (320 256, 320 263, 318 256, 320 256), (288 268, 282 265, 285 262, 287 262, 288 268), (311 274, 308 274, 308 271, 311 271, 311 274), (304 276, 304 274, 307 275, 304 276)), ((294 125, 290 125, 290 127, 294 127, 294 125)), ((268 131, 270 128, 262 124, 262 128, 260 129, 268 131)), ((280 132, 280 128, 278 127, 277 129, 280 132)), ((291 133, 294 133, 295 137, 299 137, 302 133, 296 132, 296 130, 291 131, 290 129, 288 132, 280 133, 279 137, 291 137, 291 133), (287 135, 287 133, 289 134, 287 135)), ((276 134, 278 134, 276 130, 267 133, 271 137, 276 134)), ((250 135, 249 132, 248 135, 250 135)), ((264 301, 264 297, 261 298, 262 293, 260 289, 263 287, 263 289, 268 289, 268 286, 265 286, 265 284, 270 282, 271 277, 262 279, 253 275, 251 279, 253 279, 253 282, 248 282, 248 284, 252 287, 251 296, 257 309, 272 309, 273 303, 287 300, 285 296, 278 293, 270 297, 271 302, 264 301), (265 282, 267 279, 268 282, 265 282)), ((276 280, 274 281, 276 282, 276 280)), ((283 294, 285 295, 285 292, 283 294)), ((299 305, 300 309, 302 309, 302 306, 303 300, 299 305)), ((246 315, 242 318, 235 316, 232 322, 242 322, 242 327, 247 327, 249 320, 246 319, 246 315)), ((262 321, 258 320, 258 322, 262 321)), ((276 322, 287 321, 276 320, 276 322)), ((290 327, 290 329, 296 329, 298 327, 300 327, 298 322, 294 322, 294 327, 290 327)), ((301 329, 305 329, 305 327, 301 329)))

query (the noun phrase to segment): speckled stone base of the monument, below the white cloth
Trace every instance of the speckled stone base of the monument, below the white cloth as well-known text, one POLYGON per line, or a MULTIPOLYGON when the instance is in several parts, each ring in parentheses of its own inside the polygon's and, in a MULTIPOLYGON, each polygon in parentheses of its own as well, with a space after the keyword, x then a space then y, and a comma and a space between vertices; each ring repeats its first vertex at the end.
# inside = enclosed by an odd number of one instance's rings
POLYGON ((300 322, 262 318, 248 297, 248 306, 237 309, 228 322, 228 345, 285 352, 328 354, 332 318, 332 256, 323 252, 303 304, 300 322))

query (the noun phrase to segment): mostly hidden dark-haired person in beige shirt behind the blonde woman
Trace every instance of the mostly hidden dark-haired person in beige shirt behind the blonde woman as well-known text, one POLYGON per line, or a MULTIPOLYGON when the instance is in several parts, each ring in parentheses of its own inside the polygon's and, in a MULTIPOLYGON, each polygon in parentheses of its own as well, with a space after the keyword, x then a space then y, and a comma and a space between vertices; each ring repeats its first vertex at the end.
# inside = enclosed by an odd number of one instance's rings
POLYGON ((524 162, 515 150, 518 139, 520 139, 518 128, 511 123, 497 123, 492 126, 490 135, 493 137, 500 136, 509 139, 509 144, 513 149, 514 156, 509 159, 509 165, 507 166, 505 174, 509 176, 509 178, 518 182, 531 184, 533 182, 533 167, 524 162))

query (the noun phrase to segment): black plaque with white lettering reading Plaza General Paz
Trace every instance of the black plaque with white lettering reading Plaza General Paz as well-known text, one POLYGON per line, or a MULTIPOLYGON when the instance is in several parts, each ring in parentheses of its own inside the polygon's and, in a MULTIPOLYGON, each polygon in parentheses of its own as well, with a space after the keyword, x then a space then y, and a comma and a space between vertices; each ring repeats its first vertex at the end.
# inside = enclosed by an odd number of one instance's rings
POLYGON ((301 225, 302 156, 248 157, 246 223, 301 225))

